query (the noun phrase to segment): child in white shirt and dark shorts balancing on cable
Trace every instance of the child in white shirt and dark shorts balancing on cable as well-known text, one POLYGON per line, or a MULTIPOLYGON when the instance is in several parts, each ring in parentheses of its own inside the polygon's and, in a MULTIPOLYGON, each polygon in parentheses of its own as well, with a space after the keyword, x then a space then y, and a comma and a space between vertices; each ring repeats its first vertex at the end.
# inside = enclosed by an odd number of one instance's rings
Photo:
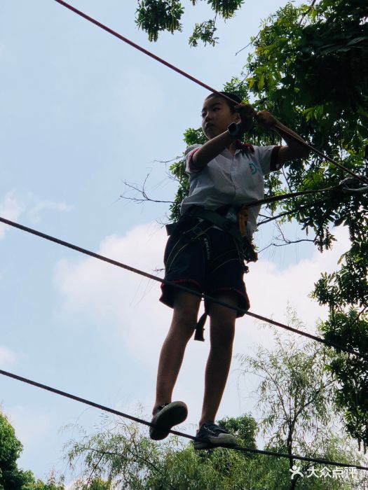
MULTIPOLYGON (((243 281, 247 270, 244 260, 257 258, 250 257, 252 254, 243 245, 252 241, 260 207, 244 214, 244 205, 263 199, 264 175, 280 169, 288 160, 305 158, 308 151, 282 131, 285 128, 301 139, 271 113, 256 113, 235 94, 222 93, 233 104, 219 94, 208 95, 202 109, 202 129, 208 141, 185 152, 189 195, 182 202, 181 217, 165 248, 165 279, 247 310, 250 302, 243 281), (254 120, 266 129, 277 123, 287 146, 240 143, 239 138, 250 130, 254 120)), ((184 402, 172 402, 172 391, 200 306, 200 297, 164 284, 160 300, 173 308, 173 316, 158 363, 154 426, 150 428, 154 440, 164 439, 172 426, 186 419, 187 407, 184 402)), ((236 317, 243 315, 207 302, 205 312, 210 316, 210 354, 195 449, 236 444, 236 437, 214 420, 230 370, 236 317)))

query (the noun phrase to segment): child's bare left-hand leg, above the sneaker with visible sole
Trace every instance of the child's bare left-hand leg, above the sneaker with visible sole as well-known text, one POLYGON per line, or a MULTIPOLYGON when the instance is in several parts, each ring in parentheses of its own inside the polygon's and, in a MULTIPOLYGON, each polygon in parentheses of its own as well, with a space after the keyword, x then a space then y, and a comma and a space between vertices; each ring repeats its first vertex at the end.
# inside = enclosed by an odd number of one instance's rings
POLYGON ((158 361, 156 402, 158 405, 171 402, 172 391, 177 381, 184 351, 194 328, 196 328, 200 297, 178 291, 175 296, 174 313, 170 330, 161 349, 158 361))

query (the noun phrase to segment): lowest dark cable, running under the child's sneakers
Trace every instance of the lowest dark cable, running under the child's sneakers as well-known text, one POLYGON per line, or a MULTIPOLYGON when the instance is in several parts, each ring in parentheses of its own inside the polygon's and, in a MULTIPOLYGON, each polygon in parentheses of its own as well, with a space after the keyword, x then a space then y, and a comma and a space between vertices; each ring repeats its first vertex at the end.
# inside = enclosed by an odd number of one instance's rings
MULTIPOLYGON (((63 396, 64 398, 69 398, 70 400, 74 400, 79 403, 83 403, 84 405, 89 405, 90 407, 95 407, 103 412, 109 412, 110 414, 118 415, 123 417, 124 419, 129 419, 131 421, 137 422, 137 423, 142 423, 145 426, 149 427, 154 427, 154 424, 151 422, 148 422, 144 419, 139 419, 136 416, 132 416, 130 414, 125 414, 123 412, 120 412, 119 410, 116 410, 114 408, 106 407, 104 405, 100 405, 100 403, 92 402, 90 400, 86 400, 86 398, 81 398, 80 396, 72 395, 71 393, 67 393, 66 391, 59 390, 57 388, 53 388, 52 386, 47 386, 46 384, 39 383, 37 381, 32 381, 32 379, 28 379, 22 376, 19 376, 18 374, 14 374, 13 372, 8 372, 0 369, 0 374, 16 379, 17 381, 21 381, 22 383, 30 384, 31 386, 36 386, 36 388, 41 388, 46 391, 50 391, 51 393, 55 393, 56 395, 63 396)), ((179 437, 185 437, 186 439, 191 439, 191 440, 197 440, 197 438, 193 435, 186 434, 183 432, 179 432, 178 430, 170 430, 171 434, 178 435, 179 437)), ((328 459, 321 459, 321 458, 312 458, 308 456, 298 456, 296 454, 284 454, 284 453, 279 453, 279 452, 273 452, 273 451, 266 451, 264 449, 253 449, 252 447, 242 447, 242 446, 234 446, 234 447, 229 447, 227 449, 233 449, 235 451, 240 451, 244 453, 254 453, 254 454, 265 454, 266 456, 275 456, 278 458, 287 458, 287 459, 299 459, 301 461, 309 461, 311 463, 320 463, 324 465, 333 465, 333 466, 342 466, 343 468, 356 468, 357 470, 365 470, 368 471, 367 466, 360 466, 360 465, 352 465, 350 463, 339 463, 337 461, 329 461, 328 459)))

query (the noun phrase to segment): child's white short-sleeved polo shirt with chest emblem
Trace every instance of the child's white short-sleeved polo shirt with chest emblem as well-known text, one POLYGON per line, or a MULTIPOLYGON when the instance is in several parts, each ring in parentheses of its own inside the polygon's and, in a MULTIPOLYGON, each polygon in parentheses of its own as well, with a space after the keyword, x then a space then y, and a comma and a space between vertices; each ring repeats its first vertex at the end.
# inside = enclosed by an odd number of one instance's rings
MULTIPOLYGON (((264 176, 281 165, 276 165, 280 146, 252 146, 240 144, 235 155, 225 149, 203 169, 191 169, 191 159, 202 145, 186 149, 186 172, 189 174, 189 195, 184 197, 181 214, 193 204, 214 211, 228 204, 238 208, 264 198, 264 176)), ((249 209, 247 235, 252 238, 257 229, 257 216, 261 207, 249 209)), ((227 216, 236 220, 233 213, 227 216)))

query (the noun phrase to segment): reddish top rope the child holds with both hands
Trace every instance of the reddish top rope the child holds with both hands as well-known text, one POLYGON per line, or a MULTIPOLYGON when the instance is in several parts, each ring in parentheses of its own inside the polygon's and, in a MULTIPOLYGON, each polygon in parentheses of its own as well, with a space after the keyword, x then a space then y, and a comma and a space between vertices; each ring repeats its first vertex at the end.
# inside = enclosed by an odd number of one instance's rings
MULTIPOLYGON (((57 3, 60 3, 60 5, 62 5, 62 6, 66 7, 66 8, 69 8, 69 10, 71 10, 74 13, 76 13, 77 15, 80 15, 83 19, 88 20, 88 22, 92 22, 92 24, 97 25, 97 27, 100 27, 101 29, 104 29, 104 31, 107 31, 107 32, 109 32, 109 34, 112 34, 113 36, 117 37, 121 41, 124 41, 124 43, 127 43, 130 46, 132 46, 133 48, 135 48, 135 49, 143 52, 145 55, 147 55, 147 56, 149 56, 151 58, 156 59, 156 61, 164 64, 165 66, 168 66, 168 68, 170 68, 170 69, 172 69, 174 71, 177 71, 177 73, 179 73, 180 75, 185 76, 186 78, 189 78, 189 80, 191 80, 192 82, 197 83, 198 85, 200 85, 201 87, 204 87, 205 89, 209 90, 210 92, 213 92, 214 94, 219 95, 219 97, 223 97, 224 99, 228 99, 229 102, 231 102, 233 104, 233 99, 230 99, 230 97, 227 97, 226 95, 222 94, 218 90, 215 90, 214 88, 210 87, 210 85, 207 85, 206 83, 201 82, 200 80, 198 80, 198 78, 195 78, 195 77, 189 75, 189 73, 186 73, 184 70, 181 70, 181 69, 177 68, 177 66, 175 66, 175 65, 173 65, 173 64, 165 61, 165 59, 163 59, 163 58, 161 58, 161 57, 159 57, 157 55, 154 55, 153 52, 151 52, 149 50, 146 50, 145 48, 142 48, 142 46, 139 46, 138 44, 134 43, 133 41, 130 41, 130 39, 126 38, 125 36, 122 36, 122 34, 119 34, 118 32, 114 31, 110 27, 107 27, 106 25, 102 24, 102 22, 99 22, 98 20, 95 20, 94 18, 90 17, 90 15, 87 15, 86 13, 82 12, 81 10, 78 10, 78 8, 75 8, 74 6, 71 6, 66 1, 63 1, 63 0, 55 0, 55 1, 57 1, 57 3)), ((274 125, 273 127, 275 129, 279 129, 280 130, 280 127, 278 127, 278 125, 274 125)), ((328 160, 329 162, 331 162, 336 167, 339 167, 339 169, 341 169, 344 172, 347 172, 351 176, 355 177, 355 179, 359 179, 360 181, 362 181, 364 183, 367 183, 367 179, 365 179, 364 177, 359 176, 357 174, 354 174, 354 172, 352 172, 348 168, 343 167, 343 165, 335 162, 334 160, 332 160, 332 158, 329 158, 327 155, 324 155, 323 153, 321 153, 316 148, 313 148, 313 146, 308 145, 305 141, 303 141, 303 140, 295 137, 294 134, 289 133, 287 130, 284 130, 284 128, 282 128, 282 132, 285 132, 285 134, 287 134, 290 138, 294 139, 294 141, 298 141, 299 144, 301 144, 301 145, 305 146, 306 148, 308 148, 308 150, 309 151, 312 151, 313 153, 315 153, 315 155, 318 155, 321 158, 324 158, 325 160, 328 160)))

